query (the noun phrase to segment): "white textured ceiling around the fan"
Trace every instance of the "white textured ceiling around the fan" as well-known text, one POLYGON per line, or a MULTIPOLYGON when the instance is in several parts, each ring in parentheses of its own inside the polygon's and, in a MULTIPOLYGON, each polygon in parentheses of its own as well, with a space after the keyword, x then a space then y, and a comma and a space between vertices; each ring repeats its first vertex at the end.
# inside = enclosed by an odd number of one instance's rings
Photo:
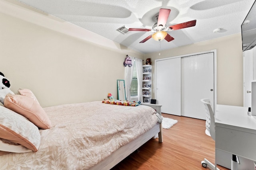
POLYGON ((255 0, 19 0, 43 12, 74 23, 141 53, 152 53, 241 32, 255 0), (149 39, 152 32, 118 28, 152 29, 160 8, 171 9, 167 26, 197 20, 196 26, 168 32, 173 41, 149 39), (220 32, 213 30, 220 28, 220 32))

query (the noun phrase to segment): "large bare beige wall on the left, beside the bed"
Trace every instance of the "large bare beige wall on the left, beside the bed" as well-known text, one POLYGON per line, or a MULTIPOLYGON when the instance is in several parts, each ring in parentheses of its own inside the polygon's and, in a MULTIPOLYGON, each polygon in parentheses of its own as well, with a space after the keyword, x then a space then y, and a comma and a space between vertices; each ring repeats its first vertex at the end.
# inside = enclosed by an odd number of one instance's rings
POLYGON ((144 57, 19 5, 0 0, 0 72, 14 93, 28 88, 42 107, 103 100, 109 92, 117 98, 116 80, 124 79, 126 55, 144 57))

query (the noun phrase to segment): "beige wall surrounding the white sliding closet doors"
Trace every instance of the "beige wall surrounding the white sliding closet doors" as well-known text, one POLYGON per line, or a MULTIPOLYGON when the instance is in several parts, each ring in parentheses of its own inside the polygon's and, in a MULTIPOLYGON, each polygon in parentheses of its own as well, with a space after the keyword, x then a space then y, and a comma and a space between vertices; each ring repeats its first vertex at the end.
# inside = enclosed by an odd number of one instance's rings
POLYGON ((213 49, 217 49, 217 104, 243 106, 243 55, 240 33, 161 51, 161 55, 159 52, 150 53, 145 55, 144 60, 151 58, 154 68, 155 59, 213 49))

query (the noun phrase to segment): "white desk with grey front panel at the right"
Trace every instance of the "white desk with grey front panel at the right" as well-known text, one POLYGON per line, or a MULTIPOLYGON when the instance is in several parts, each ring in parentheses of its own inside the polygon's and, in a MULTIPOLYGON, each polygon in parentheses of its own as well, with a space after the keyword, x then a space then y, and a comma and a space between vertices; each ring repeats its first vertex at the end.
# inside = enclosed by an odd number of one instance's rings
POLYGON ((248 107, 217 105, 215 149, 256 161, 256 117, 248 107))

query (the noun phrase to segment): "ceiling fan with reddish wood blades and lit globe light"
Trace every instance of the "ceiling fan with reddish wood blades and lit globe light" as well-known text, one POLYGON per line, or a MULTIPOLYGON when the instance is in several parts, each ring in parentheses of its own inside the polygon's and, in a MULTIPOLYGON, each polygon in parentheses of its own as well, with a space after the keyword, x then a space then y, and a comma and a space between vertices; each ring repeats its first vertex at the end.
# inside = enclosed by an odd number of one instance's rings
POLYGON ((174 40, 166 31, 172 31, 176 29, 182 29, 187 27, 194 27, 196 25, 196 20, 187 21, 184 23, 178 23, 176 25, 166 26, 166 21, 169 17, 171 10, 161 8, 159 10, 159 14, 155 17, 156 23, 153 25, 152 29, 143 29, 143 28, 129 28, 128 31, 151 31, 153 32, 152 35, 149 35, 140 43, 144 43, 148 41, 151 37, 156 41, 161 41, 165 39, 166 41, 170 42, 174 40))

